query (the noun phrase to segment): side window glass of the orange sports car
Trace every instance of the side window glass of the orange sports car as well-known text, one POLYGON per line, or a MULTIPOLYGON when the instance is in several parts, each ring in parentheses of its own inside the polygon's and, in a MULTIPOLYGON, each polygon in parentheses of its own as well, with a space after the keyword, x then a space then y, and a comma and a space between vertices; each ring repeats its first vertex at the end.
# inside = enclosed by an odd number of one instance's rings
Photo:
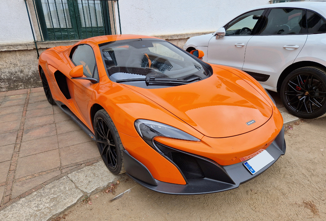
POLYGON ((96 76, 96 62, 92 47, 89 45, 79 45, 72 54, 72 62, 78 66, 83 65, 84 75, 86 77, 96 76))

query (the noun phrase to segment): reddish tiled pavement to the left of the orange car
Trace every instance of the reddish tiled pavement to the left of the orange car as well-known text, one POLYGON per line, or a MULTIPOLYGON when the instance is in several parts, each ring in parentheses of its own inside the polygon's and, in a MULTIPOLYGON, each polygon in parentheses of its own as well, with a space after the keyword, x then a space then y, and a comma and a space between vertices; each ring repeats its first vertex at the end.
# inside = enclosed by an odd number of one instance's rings
POLYGON ((0 92, 0 205, 100 160, 93 142, 42 87, 0 92))

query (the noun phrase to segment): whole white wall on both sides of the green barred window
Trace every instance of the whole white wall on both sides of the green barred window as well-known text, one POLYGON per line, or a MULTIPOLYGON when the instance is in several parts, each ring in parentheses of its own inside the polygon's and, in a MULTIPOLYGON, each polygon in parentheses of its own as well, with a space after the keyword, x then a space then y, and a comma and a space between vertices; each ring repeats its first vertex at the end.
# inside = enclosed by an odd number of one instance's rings
MULTIPOLYGON (((121 30, 123 34, 145 35, 215 31, 240 12, 268 3, 268 0, 119 0, 121 30)), ((0 0, 0 33, 0 44, 33 42, 24 0, 0 0)))

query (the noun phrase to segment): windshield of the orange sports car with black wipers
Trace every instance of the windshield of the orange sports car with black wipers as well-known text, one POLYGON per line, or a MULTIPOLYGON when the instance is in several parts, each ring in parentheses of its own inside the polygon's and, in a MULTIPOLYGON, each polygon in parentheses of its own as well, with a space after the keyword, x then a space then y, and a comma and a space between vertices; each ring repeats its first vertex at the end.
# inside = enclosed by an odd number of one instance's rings
POLYGON ((164 40, 116 41, 100 49, 109 78, 114 82, 140 87, 149 86, 149 82, 175 86, 210 75, 188 52, 164 40))

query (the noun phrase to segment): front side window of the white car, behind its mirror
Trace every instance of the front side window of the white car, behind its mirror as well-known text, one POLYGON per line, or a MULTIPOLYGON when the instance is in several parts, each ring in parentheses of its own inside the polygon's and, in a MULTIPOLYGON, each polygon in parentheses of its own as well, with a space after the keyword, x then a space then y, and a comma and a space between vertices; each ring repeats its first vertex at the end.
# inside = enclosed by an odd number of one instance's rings
POLYGON ((226 28, 226 36, 250 35, 264 10, 252 11, 230 21, 226 28))

